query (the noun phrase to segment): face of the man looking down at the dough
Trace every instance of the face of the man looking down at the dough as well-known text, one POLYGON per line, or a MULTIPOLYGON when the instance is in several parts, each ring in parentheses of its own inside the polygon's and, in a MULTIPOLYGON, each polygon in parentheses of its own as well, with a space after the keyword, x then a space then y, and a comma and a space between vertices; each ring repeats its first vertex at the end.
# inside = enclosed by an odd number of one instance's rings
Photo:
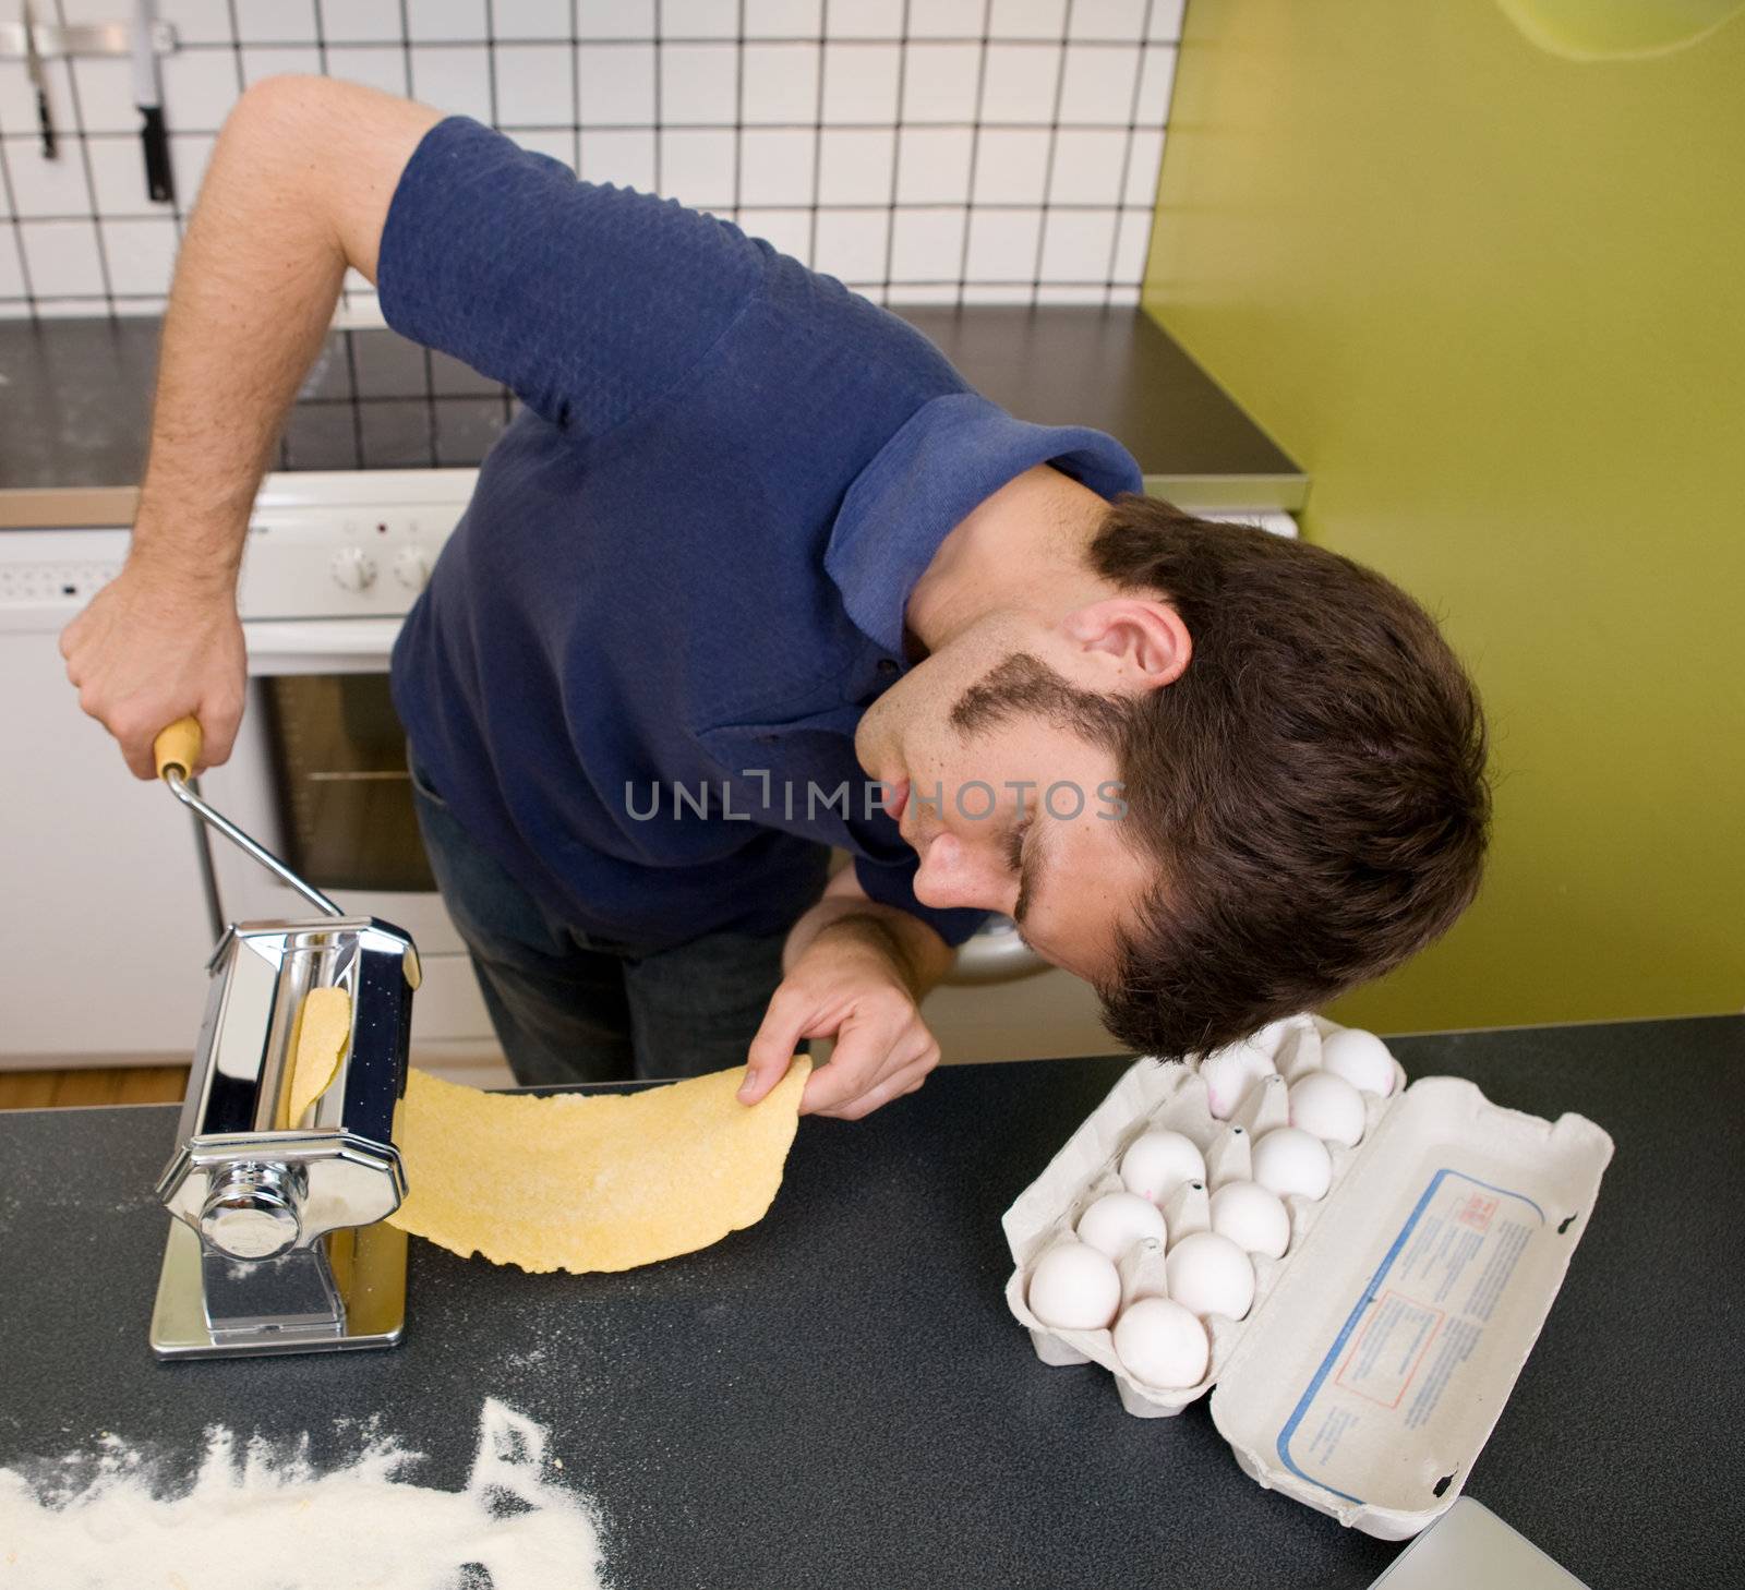
POLYGON ((1113 974, 1117 925, 1150 883, 1122 838, 1113 750, 1037 707, 967 730, 953 723, 967 693, 998 686, 1019 649, 1080 684, 1070 649, 1049 634, 979 632, 892 686, 862 719, 855 750, 897 789, 888 805, 921 857, 921 904, 1003 911, 1047 960, 1101 981, 1113 974))

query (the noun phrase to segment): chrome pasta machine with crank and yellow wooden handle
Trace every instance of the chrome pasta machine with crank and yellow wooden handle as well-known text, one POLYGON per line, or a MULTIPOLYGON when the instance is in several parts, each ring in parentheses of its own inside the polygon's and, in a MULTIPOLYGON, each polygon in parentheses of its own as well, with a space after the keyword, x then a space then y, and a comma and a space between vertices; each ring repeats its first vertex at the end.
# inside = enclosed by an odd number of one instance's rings
POLYGON ((387 1347, 405 1328, 407 1194, 394 1147, 405 1093, 412 939, 347 916, 192 789, 201 737, 157 737, 157 770, 211 827, 291 883, 321 916, 225 929, 208 972, 176 1150, 157 1182, 174 1216, 152 1311, 161 1358, 387 1347), (349 1033, 332 1082, 290 1119, 309 995, 346 991, 349 1033))

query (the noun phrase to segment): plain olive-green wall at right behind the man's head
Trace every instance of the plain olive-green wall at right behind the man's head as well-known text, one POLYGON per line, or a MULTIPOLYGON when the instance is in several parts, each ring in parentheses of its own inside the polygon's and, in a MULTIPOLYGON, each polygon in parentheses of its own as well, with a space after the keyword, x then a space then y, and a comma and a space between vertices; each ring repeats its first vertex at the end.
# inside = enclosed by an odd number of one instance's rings
POLYGON ((1146 307, 1494 731, 1478 904, 1340 1019, 1745 1005, 1742 216, 1745 21, 1577 63, 1487 0, 1188 0, 1146 307))

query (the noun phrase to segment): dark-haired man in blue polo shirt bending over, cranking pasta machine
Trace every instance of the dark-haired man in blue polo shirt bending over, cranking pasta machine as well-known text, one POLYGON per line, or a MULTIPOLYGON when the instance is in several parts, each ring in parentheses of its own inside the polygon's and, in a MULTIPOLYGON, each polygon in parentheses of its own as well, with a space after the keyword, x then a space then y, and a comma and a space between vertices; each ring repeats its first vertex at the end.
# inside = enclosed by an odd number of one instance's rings
POLYGON ((1183 1052, 1471 899, 1482 723, 1403 593, 1133 496, 726 223, 323 79, 218 140, 133 550, 63 639, 140 777, 188 712, 229 754, 248 511, 347 267, 527 405, 393 674, 522 1080, 747 1061, 756 1101, 831 1037, 803 1107, 859 1117, 937 1063, 918 1004, 986 911, 1183 1052))

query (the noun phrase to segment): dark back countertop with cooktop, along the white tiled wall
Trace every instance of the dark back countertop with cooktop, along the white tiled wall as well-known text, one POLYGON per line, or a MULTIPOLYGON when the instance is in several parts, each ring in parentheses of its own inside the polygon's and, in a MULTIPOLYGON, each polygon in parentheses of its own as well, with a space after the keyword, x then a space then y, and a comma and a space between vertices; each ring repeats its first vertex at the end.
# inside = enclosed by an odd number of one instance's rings
MULTIPOLYGON (((1145 314, 1133 309, 913 309, 906 318, 1021 419, 1120 438, 1148 485, 1197 508, 1297 508, 1297 468, 1145 314)), ((0 321, 0 524, 42 522, 21 494, 80 494, 131 520, 145 469, 155 319, 0 321), (12 508, 9 511, 9 501, 12 508)), ((387 330, 330 335, 274 468, 476 464, 513 412, 501 386, 387 330)), ((96 506, 84 508, 82 503, 96 506)), ((66 517, 66 511, 72 517, 66 517)))

